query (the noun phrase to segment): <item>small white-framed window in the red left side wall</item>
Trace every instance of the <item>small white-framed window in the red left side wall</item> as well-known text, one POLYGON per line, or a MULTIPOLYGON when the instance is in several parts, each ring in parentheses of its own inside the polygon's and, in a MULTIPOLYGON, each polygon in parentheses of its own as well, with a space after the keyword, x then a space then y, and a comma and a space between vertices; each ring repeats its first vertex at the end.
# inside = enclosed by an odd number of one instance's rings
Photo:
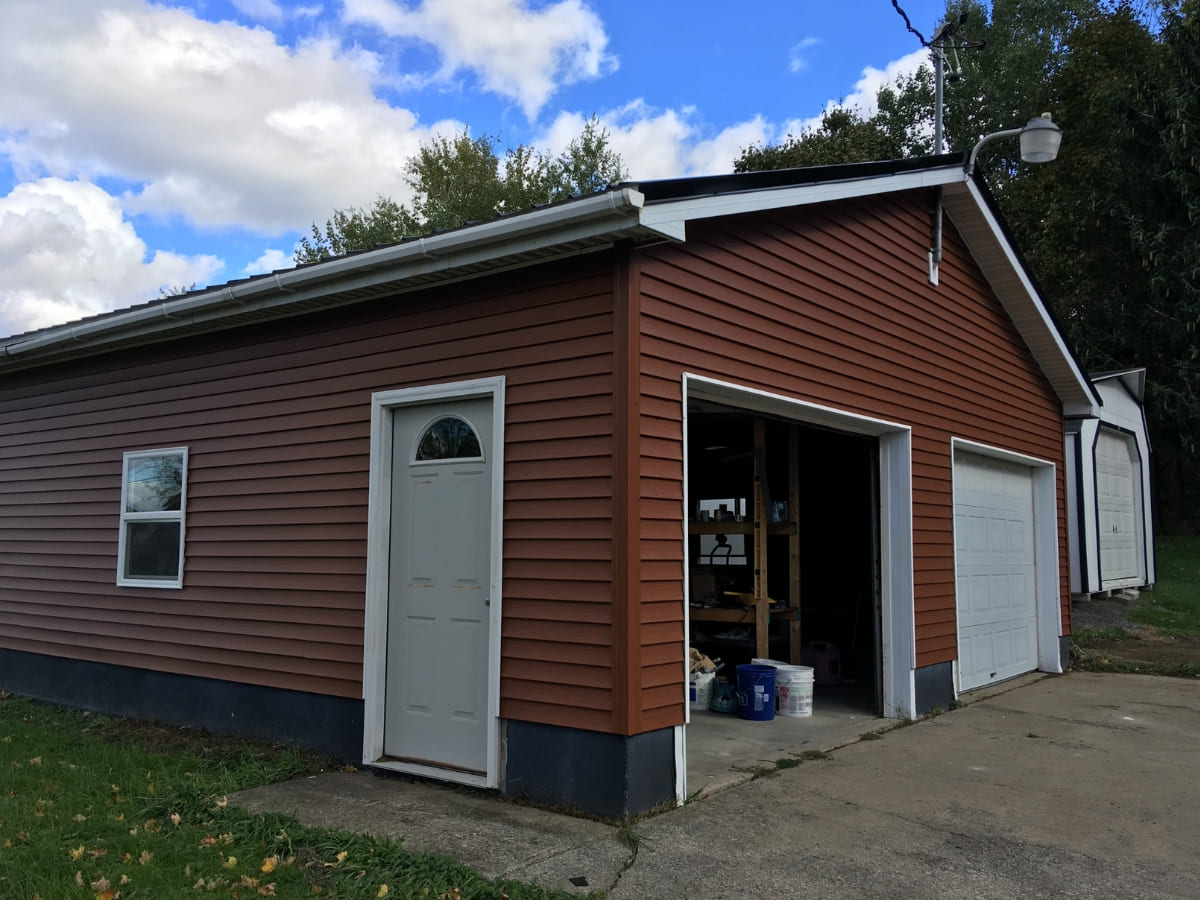
POLYGON ((125 454, 121 475, 121 535, 116 583, 125 587, 184 586, 184 510, 187 448, 125 454))

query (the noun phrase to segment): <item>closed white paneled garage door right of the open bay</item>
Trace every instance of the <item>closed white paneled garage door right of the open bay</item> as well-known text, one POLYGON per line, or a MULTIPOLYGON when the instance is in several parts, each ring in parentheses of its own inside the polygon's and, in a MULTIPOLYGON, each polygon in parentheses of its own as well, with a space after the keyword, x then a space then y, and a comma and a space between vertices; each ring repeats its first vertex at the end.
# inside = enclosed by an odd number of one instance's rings
POLYGON ((954 456, 959 689, 1038 667, 1033 470, 954 456))

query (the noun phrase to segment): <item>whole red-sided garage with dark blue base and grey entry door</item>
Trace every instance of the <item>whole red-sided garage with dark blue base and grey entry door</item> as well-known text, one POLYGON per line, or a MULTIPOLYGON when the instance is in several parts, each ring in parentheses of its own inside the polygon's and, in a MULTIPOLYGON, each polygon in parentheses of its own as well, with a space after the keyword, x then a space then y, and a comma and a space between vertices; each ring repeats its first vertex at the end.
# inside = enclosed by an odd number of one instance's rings
POLYGON ((4 690, 619 818, 690 793, 698 635, 839 646, 860 716, 1062 671, 1094 392, 959 156, 618 185, 0 348, 4 690))

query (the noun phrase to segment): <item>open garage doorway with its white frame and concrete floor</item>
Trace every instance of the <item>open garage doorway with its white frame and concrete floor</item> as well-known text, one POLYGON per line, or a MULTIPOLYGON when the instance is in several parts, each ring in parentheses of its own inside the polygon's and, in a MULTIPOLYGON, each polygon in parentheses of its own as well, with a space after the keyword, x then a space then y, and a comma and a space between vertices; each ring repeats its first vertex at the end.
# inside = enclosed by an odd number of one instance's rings
POLYGON ((695 792, 911 714, 912 456, 902 425, 695 376, 684 390, 689 649, 734 683, 761 658, 816 677, 808 718, 690 709, 695 792))

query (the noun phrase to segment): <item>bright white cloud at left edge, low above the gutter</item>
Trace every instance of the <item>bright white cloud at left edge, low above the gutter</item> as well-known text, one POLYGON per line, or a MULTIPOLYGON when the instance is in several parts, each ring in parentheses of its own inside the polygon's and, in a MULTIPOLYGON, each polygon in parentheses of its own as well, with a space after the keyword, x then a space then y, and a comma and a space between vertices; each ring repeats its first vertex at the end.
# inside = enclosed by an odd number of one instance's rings
POLYGON ((116 198, 86 181, 46 178, 0 198, 0 334, 94 316, 157 296, 163 287, 205 283, 211 256, 146 246, 116 198))

